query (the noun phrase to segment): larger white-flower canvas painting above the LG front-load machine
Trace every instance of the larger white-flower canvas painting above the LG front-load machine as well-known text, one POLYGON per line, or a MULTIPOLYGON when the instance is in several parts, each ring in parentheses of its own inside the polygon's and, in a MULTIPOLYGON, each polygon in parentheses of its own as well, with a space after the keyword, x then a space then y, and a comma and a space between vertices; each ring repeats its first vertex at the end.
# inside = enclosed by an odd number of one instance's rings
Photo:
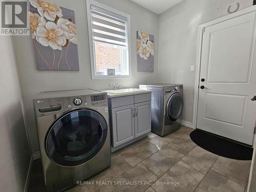
POLYGON ((79 71, 74 11, 30 1, 30 30, 37 70, 79 71))

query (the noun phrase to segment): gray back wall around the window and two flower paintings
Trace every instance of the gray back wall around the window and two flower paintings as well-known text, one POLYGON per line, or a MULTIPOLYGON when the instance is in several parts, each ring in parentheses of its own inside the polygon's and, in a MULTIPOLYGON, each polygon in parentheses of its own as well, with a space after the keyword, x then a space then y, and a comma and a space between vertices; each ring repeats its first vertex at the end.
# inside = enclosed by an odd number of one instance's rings
POLYGON ((157 81, 157 50, 155 52, 154 73, 137 72, 136 61, 136 31, 148 32, 155 35, 158 47, 158 15, 154 14, 128 0, 99 0, 98 2, 123 11, 131 15, 131 52, 132 79, 92 80, 89 52, 89 38, 87 25, 87 11, 85 0, 54 0, 51 1, 75 11, 78 33, 79 72, 65 71, 37 71, 32 40, 30 36, 14 38, 17 68, 20 84, 24 96, 25 112, 28 123, 28 134, 32 152, 39 151, 36 125, 34 120, 32 98, 41 91, 56 91, 80 88, 109 89, 110 82, 118 82, 122 87, 138 87, 140 83, 154 83, 157 81))

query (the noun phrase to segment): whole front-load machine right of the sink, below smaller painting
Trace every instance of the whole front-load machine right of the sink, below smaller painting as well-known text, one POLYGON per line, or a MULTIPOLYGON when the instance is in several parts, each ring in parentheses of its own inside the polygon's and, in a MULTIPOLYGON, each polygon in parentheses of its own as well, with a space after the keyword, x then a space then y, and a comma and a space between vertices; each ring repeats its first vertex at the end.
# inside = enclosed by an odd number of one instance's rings
POLYGON ((165 136, 178 130, 183 111, 183 85, 147 84, 140 85, 140 89, 153 91, 151 131, 165 136))

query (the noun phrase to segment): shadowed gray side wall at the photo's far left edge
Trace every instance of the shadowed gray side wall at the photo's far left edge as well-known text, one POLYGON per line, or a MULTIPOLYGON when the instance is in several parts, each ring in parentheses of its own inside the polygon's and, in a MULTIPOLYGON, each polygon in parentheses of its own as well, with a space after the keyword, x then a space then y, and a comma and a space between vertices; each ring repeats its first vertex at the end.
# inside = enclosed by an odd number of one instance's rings
POLYGON ((0 189, 24 191, 30 162, 16 65, 10 36, 0 36, 0 189))

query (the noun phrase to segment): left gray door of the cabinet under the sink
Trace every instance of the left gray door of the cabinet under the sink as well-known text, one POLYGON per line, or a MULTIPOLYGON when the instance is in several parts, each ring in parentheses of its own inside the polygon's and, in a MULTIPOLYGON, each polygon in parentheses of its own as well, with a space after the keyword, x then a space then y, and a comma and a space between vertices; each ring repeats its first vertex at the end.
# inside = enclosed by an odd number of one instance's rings
POLYGON ((113 147, 135 138, 134 136, 134 105, 112 109, 113 147))

